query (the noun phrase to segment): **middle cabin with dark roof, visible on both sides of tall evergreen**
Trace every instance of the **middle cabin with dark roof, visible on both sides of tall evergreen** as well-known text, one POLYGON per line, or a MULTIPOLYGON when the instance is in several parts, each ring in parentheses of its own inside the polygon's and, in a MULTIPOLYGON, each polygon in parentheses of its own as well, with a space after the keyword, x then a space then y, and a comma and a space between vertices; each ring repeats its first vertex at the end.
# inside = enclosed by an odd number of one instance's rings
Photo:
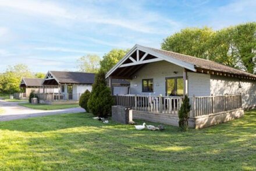
MULTIPOLYGON (((43 86, 54 86, 57 92, 40 92, 40 103, 77 104, 81 94, 91 91, 95 73, 49 71, 42 81, 43 86)), ((108 79, 106 80, 108 81, 108 79)), ((112 80, 112 91, 117 94, 128 94, 130 83, 126 80, 112 80)))

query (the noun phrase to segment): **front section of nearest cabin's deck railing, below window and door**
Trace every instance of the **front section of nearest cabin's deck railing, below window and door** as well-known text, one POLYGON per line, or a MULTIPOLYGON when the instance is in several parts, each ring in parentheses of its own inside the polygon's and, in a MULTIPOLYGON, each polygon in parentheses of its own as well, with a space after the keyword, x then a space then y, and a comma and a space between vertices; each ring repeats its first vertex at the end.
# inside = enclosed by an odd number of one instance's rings
POLYGON ((130 106, 134 111, 168 113, 177 115, 183 97, 163 97, 151 95, 113 95, 115 104, 130 106))

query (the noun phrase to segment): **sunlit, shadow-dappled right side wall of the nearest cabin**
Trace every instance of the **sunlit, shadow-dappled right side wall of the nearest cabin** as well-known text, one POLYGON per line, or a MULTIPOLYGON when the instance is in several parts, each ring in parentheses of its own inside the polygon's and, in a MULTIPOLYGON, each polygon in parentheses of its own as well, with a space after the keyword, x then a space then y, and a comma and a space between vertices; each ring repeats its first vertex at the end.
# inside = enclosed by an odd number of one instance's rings
POLYGON ((248 108, 256 105, 256 81, 241 80, 232 77, 222 77, 211 75, 211 94, 240 94, 242 93, 243 107, 248 108))

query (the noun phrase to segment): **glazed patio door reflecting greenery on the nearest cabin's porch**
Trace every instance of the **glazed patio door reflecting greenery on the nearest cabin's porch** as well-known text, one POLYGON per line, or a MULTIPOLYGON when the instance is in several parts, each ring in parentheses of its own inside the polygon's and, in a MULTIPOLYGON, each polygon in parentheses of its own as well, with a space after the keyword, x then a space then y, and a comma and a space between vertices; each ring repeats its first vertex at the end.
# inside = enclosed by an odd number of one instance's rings
POLYGON ((183 77, 166 78, 165 82, 167 96, 183 96, 183 77))

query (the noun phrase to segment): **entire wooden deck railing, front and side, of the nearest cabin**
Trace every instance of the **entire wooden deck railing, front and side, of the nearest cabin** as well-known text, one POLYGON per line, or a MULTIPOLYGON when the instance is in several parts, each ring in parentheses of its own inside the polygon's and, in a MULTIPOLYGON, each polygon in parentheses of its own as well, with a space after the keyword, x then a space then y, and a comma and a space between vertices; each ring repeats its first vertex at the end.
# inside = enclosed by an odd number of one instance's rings
MULTIPOLYGON (((113 95, 115 104, 130 106, 134 111, 178 115, 183 97, 151 95, 113 95)), ((191 117, 241 108, 241 95, 190 97, 191 117)))

